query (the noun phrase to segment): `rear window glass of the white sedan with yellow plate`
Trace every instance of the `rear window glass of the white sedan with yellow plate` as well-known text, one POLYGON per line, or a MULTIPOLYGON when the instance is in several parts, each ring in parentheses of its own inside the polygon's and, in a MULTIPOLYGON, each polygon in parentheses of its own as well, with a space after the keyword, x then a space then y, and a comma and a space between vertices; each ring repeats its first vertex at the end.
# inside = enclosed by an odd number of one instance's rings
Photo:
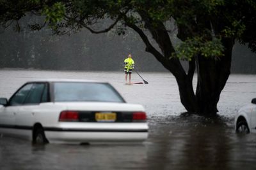
POLYGON ((109 83, 55 82, 54 101, 100 101, 124 103, 109 83))

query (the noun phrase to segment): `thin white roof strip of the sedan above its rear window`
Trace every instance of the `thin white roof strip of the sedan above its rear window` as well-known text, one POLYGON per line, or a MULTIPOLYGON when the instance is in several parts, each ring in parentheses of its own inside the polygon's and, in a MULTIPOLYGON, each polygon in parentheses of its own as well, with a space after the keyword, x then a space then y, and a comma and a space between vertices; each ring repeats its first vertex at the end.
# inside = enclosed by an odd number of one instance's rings
POLYGON ((72 79, 72 78, 44 78, 28 81, 31 82, 88 82, 88 83, 108 83, 107 81, 99 80, 84 80, 84 79, 72 79))

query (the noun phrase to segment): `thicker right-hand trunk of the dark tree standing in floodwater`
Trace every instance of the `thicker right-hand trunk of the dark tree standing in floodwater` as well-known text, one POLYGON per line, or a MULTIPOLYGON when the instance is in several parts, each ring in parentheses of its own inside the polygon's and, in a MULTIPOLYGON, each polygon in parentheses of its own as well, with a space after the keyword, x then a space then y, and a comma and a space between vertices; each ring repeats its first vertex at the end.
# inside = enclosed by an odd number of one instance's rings
POLYGON ((225 52, 220 59, 198 56, 196 60, 198 73, 196 107, 197 112, 201 115, 210 117, 216 115, 221 90, 225 87, 230 74, 234 41, 223 39, 222 43, 225 46, 225 52))

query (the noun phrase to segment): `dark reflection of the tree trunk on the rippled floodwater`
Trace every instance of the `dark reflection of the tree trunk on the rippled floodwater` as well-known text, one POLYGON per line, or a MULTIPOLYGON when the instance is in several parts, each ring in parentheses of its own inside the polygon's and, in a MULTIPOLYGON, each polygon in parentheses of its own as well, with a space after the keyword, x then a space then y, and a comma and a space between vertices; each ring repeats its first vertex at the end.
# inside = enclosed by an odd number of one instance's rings
POLYGON ((184 149, 185 161, 192 169, 228 169, 230 139, 221 120, 203 120, 189 128, 184 149))

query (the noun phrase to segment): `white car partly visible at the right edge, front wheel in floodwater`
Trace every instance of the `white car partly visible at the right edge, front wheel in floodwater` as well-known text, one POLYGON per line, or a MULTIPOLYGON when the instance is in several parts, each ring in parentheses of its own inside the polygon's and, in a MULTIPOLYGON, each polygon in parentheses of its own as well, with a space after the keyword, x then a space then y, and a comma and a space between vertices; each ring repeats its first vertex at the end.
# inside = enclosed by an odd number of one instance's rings
POLYGON ((238 111, 235 118, 235 130, 237 133, 245 134, 256 132, 256 98, 238 111))

